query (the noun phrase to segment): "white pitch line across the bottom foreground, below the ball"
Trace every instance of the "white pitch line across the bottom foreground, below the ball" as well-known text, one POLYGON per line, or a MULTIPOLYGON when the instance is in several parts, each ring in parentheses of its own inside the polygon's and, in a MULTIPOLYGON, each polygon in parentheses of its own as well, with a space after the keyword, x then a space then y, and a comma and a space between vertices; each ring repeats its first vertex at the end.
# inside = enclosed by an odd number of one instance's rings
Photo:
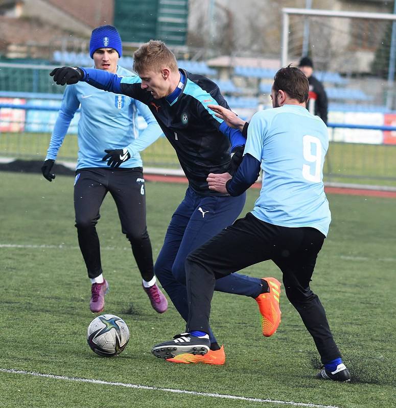
POLYGON ((248 398, 248 397, 240 397, 238 395, 226 395, 226 394, 216 394, 216 393, 208 393, 208 392, 177 390, 173 388, 150 387, 150 386, 142 386, 142 385, 137 385, 137 384, 128 384, 125 382, 102 381, 100 379, 91 379, 91 378, 66 377, 64 375, 42 374, 42 373, 36 373, 36 372, 30 372, 30 371, 12 370, 12 369, 5 369, 5 368, 0 368, 0 372, 11 373, 11 374, 28 374, 28 375, 34 375, 36 377, 63 379, 63 380, 76 381, 76 382, 89 382, 90 384, 101 384, 105 386, 135 388, 139 390, 173 392, 175 394, 199 395, 202 397, 235 399, 235 400, 242 400, 242 401, 263 402, 263 403, 283 404, 283 405, 293 405, 293 406, 310 406, 313 408, 340 408, 335 405, 320 405, 320 404, 310 404, 310 403, 304 403, 304 402, 278 401, 274 399, 248 398))

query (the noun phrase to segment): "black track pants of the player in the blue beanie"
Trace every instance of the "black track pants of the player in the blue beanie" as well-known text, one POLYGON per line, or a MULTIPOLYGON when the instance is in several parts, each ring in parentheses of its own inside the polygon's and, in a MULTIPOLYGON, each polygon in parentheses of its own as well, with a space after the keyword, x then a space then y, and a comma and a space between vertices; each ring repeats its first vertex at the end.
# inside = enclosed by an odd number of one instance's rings
POLYGON ((151 242, 146 225, 146 189, 141 167, 131 169, 90 168, 77 171, 74 208, 78 243, 88 276, 102 273, 96 224, 107 192, 117 205, 123 234, 131 243, 137 267, 145 281, 154 276, 151 242))

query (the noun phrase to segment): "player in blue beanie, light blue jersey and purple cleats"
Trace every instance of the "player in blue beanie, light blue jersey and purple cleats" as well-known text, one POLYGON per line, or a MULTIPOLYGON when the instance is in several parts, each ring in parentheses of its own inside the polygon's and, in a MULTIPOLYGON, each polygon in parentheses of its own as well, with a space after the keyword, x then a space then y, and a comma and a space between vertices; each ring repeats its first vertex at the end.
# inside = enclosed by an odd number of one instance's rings
MULTIPOLYGON (((118 66, 122 42, 118 31, 103 25, 92 31, 90 57, 95 68, 118 75, 132 75, 118 66)), ((79 82, 66 87, 50 146, 42 166, 46 180, 75 112, 81 106, 78 122, 78 160, 74 183, 74 206, 78 242, 91 281, 90 310, 104 310, 108 284, 102 274, 100 243, 96 223, 102 201, 110 192, 117 205, 122 232, 131 243, 142 285, 158 313, 168 302, 156 284, 151 242, 146 225, 146 193, 142 151, 161 136, 162 131, 149 108, 129 96, 113 94, 79 82), (147 123, 139 136, 137 114, 147 123)))

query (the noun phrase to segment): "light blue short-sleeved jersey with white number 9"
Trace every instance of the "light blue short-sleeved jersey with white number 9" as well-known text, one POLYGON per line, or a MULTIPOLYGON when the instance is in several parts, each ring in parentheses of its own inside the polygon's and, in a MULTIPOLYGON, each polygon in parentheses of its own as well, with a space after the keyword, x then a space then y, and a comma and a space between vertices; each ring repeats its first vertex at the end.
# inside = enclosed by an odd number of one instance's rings
POLYGON ((323 163, 328 147, 327 126, 301 106, 255 113, 245 154, 261 162, 263 186, 252 214, 274 225, 313 227, 327 236, 331 214, 323 163))

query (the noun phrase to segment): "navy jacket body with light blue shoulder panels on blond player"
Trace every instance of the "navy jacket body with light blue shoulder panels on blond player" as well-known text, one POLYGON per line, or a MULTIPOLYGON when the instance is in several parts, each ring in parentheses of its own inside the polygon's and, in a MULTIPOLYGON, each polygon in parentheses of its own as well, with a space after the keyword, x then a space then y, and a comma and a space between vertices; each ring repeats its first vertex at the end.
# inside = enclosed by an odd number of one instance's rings
MULTIPOLYGON (((228 170, 230 143, 219 130, 222 123, 227 129, 225 122, 217 118, 207 105, 214 101, 226 108, 228 105, 214 82, 182 69, 179 72, 180 81, 176 92, 160 99, 156 99, 145 88, 142 89, 144 81, 139 77, 113 77, 119 83, 114 86, 112 81, 110 89, 120 87, 122 93, 136 95, 149 106, 175 148, 192 188, 200 194, 211 195, 206 184, 207 174, 228 170)), ((243 138, 235 139, 237 144, 245 143, 243 138)))

